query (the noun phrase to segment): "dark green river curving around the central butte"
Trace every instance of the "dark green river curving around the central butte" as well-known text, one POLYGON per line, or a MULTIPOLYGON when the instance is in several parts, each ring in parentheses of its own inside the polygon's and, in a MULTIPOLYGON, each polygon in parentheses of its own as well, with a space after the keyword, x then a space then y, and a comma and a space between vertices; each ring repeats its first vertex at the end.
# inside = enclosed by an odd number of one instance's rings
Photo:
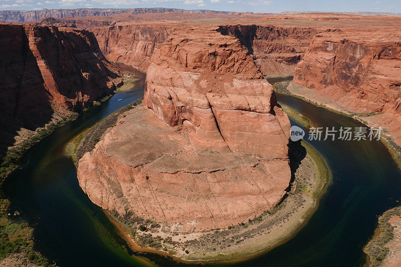
MULTIPOLYGON (((146 265, 149 260, 142 256, 163 266, 176 264, 158 254, 131 251, 101 208, 83 193, 72 159, 64 155, 73 137, 140 98, 143 82, 46 137, 21 158, 22 167, 4 184, 11 209, 34 225, 36 249, 59 266, 146 265)), ((278 100, 302 113, 313 126, 362 126, 297 98, 278 95, 278 100)), ((289 241, 238 266, 361 265, 362 247, 374 231, 377 216, 399 204, 401 174, 381 142, 308 143, 324 157, 333 176, 317 211, 289 241)))

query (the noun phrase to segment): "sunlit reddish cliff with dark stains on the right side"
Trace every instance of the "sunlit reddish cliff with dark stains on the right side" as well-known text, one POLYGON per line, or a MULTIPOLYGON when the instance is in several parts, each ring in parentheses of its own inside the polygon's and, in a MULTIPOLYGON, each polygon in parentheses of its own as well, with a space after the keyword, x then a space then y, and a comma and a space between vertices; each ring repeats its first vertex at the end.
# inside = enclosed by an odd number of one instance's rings
POLYGON ((401 43, 395 32, 323 33, 297 65, 294 83, 389 130, 401 144, 401 43))

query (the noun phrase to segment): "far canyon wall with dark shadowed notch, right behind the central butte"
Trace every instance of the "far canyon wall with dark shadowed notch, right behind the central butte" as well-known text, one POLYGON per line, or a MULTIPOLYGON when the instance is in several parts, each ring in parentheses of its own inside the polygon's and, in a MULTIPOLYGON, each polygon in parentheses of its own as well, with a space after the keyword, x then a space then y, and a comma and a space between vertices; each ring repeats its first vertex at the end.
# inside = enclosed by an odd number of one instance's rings
POLYGON ((238 38, 266 77, 292 76, 319 29, 260 25, 220 26, 223 35, 238 38))

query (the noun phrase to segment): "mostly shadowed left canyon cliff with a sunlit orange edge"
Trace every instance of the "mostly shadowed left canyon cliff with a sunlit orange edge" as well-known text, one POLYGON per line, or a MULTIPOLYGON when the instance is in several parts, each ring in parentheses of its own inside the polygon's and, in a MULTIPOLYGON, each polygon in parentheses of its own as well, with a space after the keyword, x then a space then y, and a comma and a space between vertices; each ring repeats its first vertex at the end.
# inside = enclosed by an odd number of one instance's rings
POLYGON ((55 112, 80 111, 121 81, 86 31, 3 24, 0 51, 4 150, 21 128, 42 127, 55 112))

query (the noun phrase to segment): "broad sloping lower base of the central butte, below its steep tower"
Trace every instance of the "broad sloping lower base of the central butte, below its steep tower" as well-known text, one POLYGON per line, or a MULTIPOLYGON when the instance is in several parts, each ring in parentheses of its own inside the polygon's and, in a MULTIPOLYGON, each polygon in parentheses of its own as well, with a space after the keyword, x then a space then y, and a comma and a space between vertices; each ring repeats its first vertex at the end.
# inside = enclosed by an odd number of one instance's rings
POLYGON ((188 132, 143 106, 125 113, 80 159, 81 187, 103 208, 183 232, 238 224, 281 201, 287 159, 195 149, 188 132))

